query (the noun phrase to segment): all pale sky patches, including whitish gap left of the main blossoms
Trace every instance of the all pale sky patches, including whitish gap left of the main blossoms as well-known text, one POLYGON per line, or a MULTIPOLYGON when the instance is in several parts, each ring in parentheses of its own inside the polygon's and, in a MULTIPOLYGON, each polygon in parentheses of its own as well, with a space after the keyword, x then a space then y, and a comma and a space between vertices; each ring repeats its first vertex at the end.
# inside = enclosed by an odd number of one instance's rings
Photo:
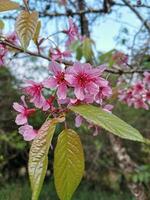
MULTIPOLYGON (((19 0, 16 0, 17 2, 20 2, 19 0)), ((146 1, 146 0, 145 0, 146 1)), ((120 2, 118 0, 117 2, 120 2)), ((148 0, 150 5, 150 0, 148 0)), ((91 5, 94 4, 94 0, 88 1, 91 5)), ((61 10, 62 11, 62 10, 61 10)), ((150 12, 150 11, 149 11, 150 12)), ((10 12, 13 13, 13 12, 10 12)), ((3 16, 6 13, 1 13, 0 17, 3 16)), ((140 14, 143 17, 147 17, 148 14, 143 11, 143 9, 140 10, 140 14)), ((150 16, 150 13, 149 13, 150 16)), ((75 18, 74 21, 78 24, 77 19, 75 18)), ((42 21, 42 33, 41 35, 46 37, 52 33, 55 33, 57 31, 57 28, 59 30, 63 30, 65 27, 67 27, 67 18, 63 18, 62 20, 43 20, 42 21)), ((129 34, 126 35, 125 33, 121 33, 120 35, 125 37, 127 40, 132 40, 135 32, 139 30, 141 26, 141 22, 137 19, 137 17, 132 13, 128 8, 120 8, 118 10, 118 7, 114 7, 114 12, 109 15, 104 15, 102 17, 99 17, 95 23, 92 26, 91 36, 92 39, 95 41, 96 49, 101 52, 107 52, 112 49, 118 49, 122 50, 125 53, 129 53, 129 50, 122 45, 120 45, 116 40, 116 36, 119 34, 119 32, 126 27, 129 31, 129 34)), ((5 32, 10 33, 13 31, 14 24, 10 21, 5 21, 5 32)), ((64 36, 64 35, 63 35, 64 36)), ((63 36, 60 37, 60 40, 64 39, 63 36)), ((32 44, 30 46, 32 48, 32 44)), ((39 77, 39 71, 35 70, 38 67, 41 68, 42 66, 45 66, 45 69, 47 68, 48 63, 45 60, 39 59, 38 62, 29 62, 29 59, 25 59, 24 62, 20 59, 17 60, 17 62, 11 61, 11 63, 8 62, 8 64, 11 64, 11 68, 14 71, 15 75, 17 77, 20 77, 21 79, 24 77, 28 77, 30 75, 35 76, 35 80, 42 80, 42 77, 39 77), (18 67, 21 65, 26 65, 26 67, 18 67), (37 73, 37 75, 36 75, 37 73)), ((42 74, 47 74, 47 71, 43 72, 42 68, 42 74)), ((45 76, 42 75, 42 76, 45 76)))

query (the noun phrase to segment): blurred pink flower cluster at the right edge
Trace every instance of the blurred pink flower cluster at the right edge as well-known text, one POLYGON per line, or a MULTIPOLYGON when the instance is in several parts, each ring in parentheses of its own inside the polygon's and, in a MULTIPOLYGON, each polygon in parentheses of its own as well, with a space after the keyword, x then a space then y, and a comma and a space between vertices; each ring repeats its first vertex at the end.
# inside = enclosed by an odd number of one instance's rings
POLYGON ((134 106, 149 110, 150 105, 150 73, 145 72, 143 80, 119 91, 119 100, 134 106))

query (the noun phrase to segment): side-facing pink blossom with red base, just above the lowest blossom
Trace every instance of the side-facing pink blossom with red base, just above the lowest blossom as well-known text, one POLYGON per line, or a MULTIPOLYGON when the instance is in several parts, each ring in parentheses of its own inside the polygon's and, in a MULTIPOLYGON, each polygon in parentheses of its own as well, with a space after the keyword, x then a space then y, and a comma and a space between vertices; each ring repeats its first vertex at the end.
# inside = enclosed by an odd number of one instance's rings
POLYGON ((26 124, 28 121, 28 117, 35 112, 35 109, 29 109, 25 103, 24 96, 21 97, 23 104, 19 104, 17 102, 13 103, 13 108, 19 112, 16 117, 16 124, 23 125, 26 124))

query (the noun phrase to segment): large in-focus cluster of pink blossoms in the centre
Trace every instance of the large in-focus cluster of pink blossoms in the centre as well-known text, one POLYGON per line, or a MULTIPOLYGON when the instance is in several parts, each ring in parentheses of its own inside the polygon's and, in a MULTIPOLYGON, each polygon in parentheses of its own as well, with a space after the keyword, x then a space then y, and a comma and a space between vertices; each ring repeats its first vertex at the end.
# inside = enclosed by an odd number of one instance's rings
MULTIPOLYGON (((27 86, 23 89, 29 97, 30 103, 36 109, 41 109, 48 115, 56 116, 64 112, 69 105, 74 104, 99 104, 104 110, 110 111, 112 107, 105 104, 112 90, 107 80, 102 78, 104 66, 92 67, 90 64, 74 63, 73 66, 64 68, 61 64, 52 61, 50 64, 50 76, 41 83, 26 80, 27 86), (44 91, 49 91, 49 96, 44 91), (46 96, 46 97, 45 97, 46 96)), ((28 124, 28 117, 36 111, 35 108, 28 108, 24 97, 22 105, 13 104, 18 112, 16 123, 21 125, 19 132, 25 140, 32 140, 36 137, 37 131, 28 124)), ((80 116, 76 118, 76 124, 82 123, 80 116)))

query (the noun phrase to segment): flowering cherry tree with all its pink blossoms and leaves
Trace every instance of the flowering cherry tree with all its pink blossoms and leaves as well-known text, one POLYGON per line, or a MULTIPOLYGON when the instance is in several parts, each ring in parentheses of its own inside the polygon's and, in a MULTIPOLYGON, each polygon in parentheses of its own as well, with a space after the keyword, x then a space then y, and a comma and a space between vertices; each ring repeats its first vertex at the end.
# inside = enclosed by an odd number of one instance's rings
MULTIPOLYGON (((130 5, 126 0, 123 2, 130 5)), ((60 3, 65 5, 67 1, 60 3)), ((67 122, 69 113, 74 113, 76 127, 83 123, 89 128, 94 127, 94 135, 100 127, 120 138, 148 143, 149 140, 138 130, 112 113, 114 106, 108 100, 114 95, 114 88, 107 75, 120 74, 116 84, 118 101, 137 109, 149 110, 150 72, 148 69, 132 69, 128 56, 120 51, 111 52, 108 56, 109 65, 115 66, 113 69, 105 62, 97 66, 92 62, 93 41, 80 34, 71 17, 68 18, 68 28, 62 30, 66 36, 65 50, 56 46, 45 52, 43 43, 46 39, 41 35, 39 13, 30 10, 27 0, 23 1, 23 5, 0 0, 0 12, 14 9, 19 9, 15 33, 4 35, 2 32, 0 35, 0 66, 4 65, 11 50, 49 61, 47 77, 41 82, 25 80, 20 102, 13 104, 19 133, 24 140, 32 141, 28 162, 32 200, 39 198, 48 166, 48 152, 59 123, 64 128, 58 136, 54 153, 54 182, 59 198, 70 200, 84 175, 85 163, 80 137, 75 130, 69 128, 67 122), (35 43, 36 51, 28 50, 31 40, 35 43), (73 50, 77 51, 77 58, 81 58, 81 48, 85 50, 84 59, 76 59, 73 50), (134 73, 140 74, 140 77, 131 82, 126 75, 134 73), (29 119, 38 110, 45 114, 46 121, 36 130, 29 119)), ((145 26, 150 31, 147 23, 145 26)))

